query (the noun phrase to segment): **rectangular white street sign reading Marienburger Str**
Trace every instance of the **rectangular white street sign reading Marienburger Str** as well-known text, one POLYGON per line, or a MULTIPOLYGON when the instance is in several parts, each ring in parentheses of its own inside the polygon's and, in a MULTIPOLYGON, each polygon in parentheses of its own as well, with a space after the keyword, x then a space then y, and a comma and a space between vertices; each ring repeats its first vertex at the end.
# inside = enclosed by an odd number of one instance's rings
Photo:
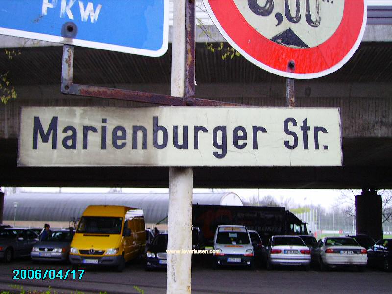
POLYGON ((22 107, 19 166, 341 166, 338 108, 22 107))

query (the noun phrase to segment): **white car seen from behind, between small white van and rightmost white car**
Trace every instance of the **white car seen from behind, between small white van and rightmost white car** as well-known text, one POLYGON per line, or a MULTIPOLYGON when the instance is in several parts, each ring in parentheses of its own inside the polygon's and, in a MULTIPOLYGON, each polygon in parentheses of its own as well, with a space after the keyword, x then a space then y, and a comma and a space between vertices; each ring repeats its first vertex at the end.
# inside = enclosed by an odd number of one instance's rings
POLYGON ((309 270, 310 250, 299 236, 272 236, 265 252, 267 270, 278 265, 309 270))

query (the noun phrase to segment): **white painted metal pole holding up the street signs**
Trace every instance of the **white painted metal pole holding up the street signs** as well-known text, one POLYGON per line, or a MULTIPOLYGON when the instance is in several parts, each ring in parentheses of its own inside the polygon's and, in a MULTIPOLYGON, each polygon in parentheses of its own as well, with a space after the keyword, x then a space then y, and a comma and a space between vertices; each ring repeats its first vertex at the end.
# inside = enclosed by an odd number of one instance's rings
MULTIPOLYGON (((174 0, 172 96, 185 95, 185 0, 174 0)), ((192 249, 193 168, 169 170, 168 250, 192 249)), ((168 253, 167 294, 191 294, 191 253, 168 253)))

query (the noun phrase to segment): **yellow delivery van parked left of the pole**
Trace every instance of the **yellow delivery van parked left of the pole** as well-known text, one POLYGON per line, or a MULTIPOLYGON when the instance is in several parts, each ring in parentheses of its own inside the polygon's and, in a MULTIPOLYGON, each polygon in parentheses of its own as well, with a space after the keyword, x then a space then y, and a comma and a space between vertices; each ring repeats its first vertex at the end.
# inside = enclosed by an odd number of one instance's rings
POLYGON ((113 266, 123 271, 125 262, 143 254, 146 233, 141 209, 90 205, 73 236, 69 260, 81 265, 113 266))

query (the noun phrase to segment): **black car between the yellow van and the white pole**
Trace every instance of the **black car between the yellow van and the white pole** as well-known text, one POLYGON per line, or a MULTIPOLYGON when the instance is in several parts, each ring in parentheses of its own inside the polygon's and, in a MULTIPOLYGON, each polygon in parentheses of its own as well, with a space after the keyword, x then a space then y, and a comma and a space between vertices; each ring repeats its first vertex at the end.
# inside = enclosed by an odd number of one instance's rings
POLYGON ((146 249, 146 265, 145 270, 166 269, 167 258, 166 249, 168 248, 168 234, 159 233, 152 239, 151 244, 146 249))

